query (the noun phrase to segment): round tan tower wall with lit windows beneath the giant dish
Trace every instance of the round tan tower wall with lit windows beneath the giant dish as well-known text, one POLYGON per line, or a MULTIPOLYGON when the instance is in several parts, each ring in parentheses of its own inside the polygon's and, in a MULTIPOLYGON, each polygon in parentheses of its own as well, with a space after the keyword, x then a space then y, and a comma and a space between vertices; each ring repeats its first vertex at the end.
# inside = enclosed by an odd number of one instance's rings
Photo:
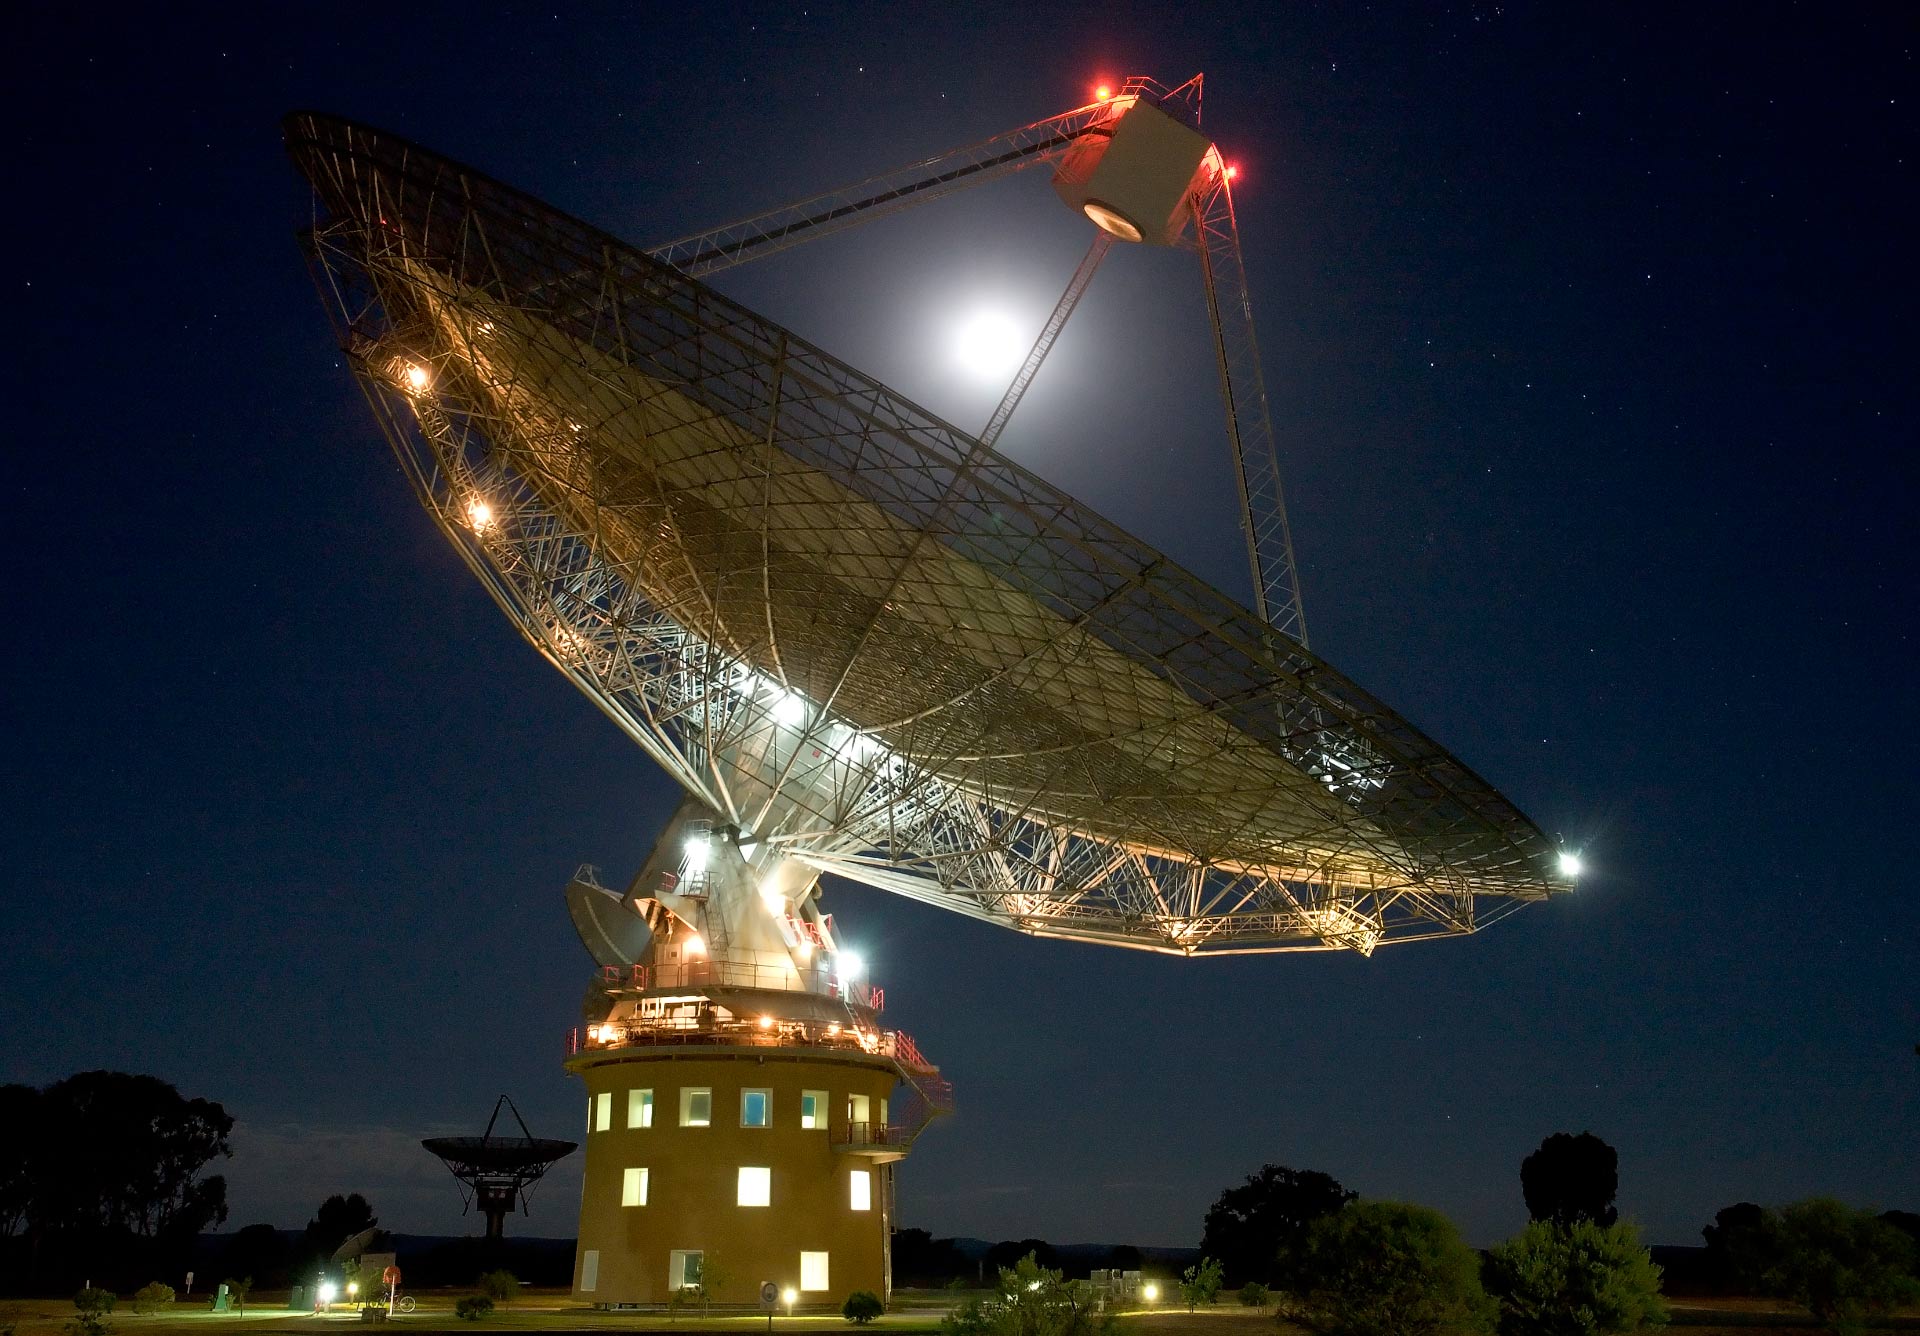
POLYGON ((797 1307, 837 1309, 852 1290, 887 1294, 891 1169, 833 1142, 845 1140, 849 1096, 868 1100, 868 1119, 885 1117, 891 1065, 820 1050, 614 1048, 568 1067, 588 1088, 574 1298, 664 1303, 676 1250, 703 1253, 714 1303, 756 1303, 764 1280, 801 1290, 803 1252, 828 1253, 828 1278, 797 1307), (632 1090, 653 1090, 653 1127, 628 1127, 632 1090), (710 1092, 707 1127, 682 1125, 685 1090, 710 1092), (741 1125, 743 1090, 768 1094, 768 1127, 741 1125), (826 1092, 828 1127, 801 1125, 806 1090, 826 1092), (743 1167, 768 1171, 768 1205, 737 1204, 743 1167), (645 1205, 624 1204, 636 1186, 630 1169, 645 1169, 645 1205), (852 1205, 854 1171, 870 1175, 864 1211, 852 1205))

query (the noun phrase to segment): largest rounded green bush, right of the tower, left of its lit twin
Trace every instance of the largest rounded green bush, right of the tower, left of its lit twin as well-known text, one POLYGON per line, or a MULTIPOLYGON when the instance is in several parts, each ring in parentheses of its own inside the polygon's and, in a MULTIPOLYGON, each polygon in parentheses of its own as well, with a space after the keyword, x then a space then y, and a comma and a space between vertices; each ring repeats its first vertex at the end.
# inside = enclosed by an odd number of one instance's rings
POLYGON ((1281 1317, 1319 1336, 1480 1336, 1480 1259, 1438 1211, 1352 1202, 1308 1230, 1281 1317))

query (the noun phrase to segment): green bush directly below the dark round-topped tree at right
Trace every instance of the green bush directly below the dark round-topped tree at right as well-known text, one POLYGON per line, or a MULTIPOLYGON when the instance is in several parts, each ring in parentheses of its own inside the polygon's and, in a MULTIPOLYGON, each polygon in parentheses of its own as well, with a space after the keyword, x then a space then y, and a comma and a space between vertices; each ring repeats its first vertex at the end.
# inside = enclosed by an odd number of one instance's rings
POLYGON ((1659 1326, 1661 1269, 1626 1221, 1534 1221, 1486 1255, 1500 1336, 1613 1336, 1659 1326))

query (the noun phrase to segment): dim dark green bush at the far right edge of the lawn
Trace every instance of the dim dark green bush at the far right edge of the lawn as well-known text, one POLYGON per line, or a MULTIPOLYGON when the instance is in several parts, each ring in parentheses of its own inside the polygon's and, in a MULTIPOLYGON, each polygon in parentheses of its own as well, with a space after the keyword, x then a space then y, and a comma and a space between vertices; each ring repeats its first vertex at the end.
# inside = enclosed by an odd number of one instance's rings
POLYGON ((1782 1207, 1772 1229, 1768 1292, 1836 1332, 1862 1330, 1868 1317, 1920 1298, 1912 1240, 1870 1211, 1814 1198, 1782 1207))

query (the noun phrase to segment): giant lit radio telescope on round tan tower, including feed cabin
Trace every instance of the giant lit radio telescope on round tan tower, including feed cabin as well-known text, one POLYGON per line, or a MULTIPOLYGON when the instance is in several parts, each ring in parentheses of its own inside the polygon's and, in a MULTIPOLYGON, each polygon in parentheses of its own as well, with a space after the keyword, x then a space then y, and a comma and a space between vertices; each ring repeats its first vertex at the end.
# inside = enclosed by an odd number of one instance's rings
POLYGON ((1308 649, 1200 88, 1129 79, 651 251, 397 136, 288 117, 315 274, 420 503, 685 789, 624 895, 591 868, 566 891, 601 966, 568 1060, 582 1298, 660 1301, 722 1269, 708 1250, 803 1301, 885 1288, 891 1163, 950 1092, 881 1027, 822 873, 1175 956, 1371 954, 1571 889, 1571 854, 1308 649), (1091 246, 979 432, 703 282, 1037 165, 1091 246), (995 451, 1137 244, 1196 253, 1252 608, 995 451))

